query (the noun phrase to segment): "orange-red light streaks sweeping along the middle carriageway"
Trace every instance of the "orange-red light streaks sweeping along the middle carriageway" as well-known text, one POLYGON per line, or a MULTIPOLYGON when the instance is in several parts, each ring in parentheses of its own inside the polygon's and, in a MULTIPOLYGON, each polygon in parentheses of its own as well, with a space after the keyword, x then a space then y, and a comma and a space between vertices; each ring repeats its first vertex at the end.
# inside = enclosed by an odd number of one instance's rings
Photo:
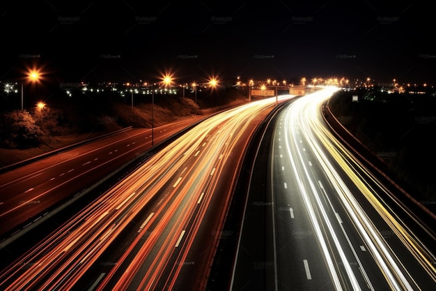
MULTIPOLYGON (((147 222, 135 232, 125 253, 117 256, 118 261, 109 273, 100 274, 93 284, 93 288, 102 290, 118 271, 125 274, 118 280, 119 290, 132 288, 135 276, 144 278, 142 283, 137 282, 139 287, 153 288, 174 252, 180 233, 184 235, 177 246, 178 260, 185 260, 212 195, 218 195, 213 191, 228 159, 233 158, 233 148, 259 112, 274 107, 274 103, 275 98, 251 102, 217 114, 189 130, 11 264, 0 274, 0 284, 6 286, 5 290, 74 288, 156 193, 172 188, 155 205, 153 216, 148 216, 147 222), (220 124, 225 127, 220 128, 220 124), (195 167, 186 167, 189 159, 198 160, 195 167), (178 184, 174 183, 176 180, 178 184), (187 227, 191 219, 194 222, 187 227), (152 250, 153 258, 149 257, 152 250), (160 256, 154 257, 155 254, 160 256), (144 265, 150 268, 141 274, 144 265)), ((176 283, 181 266, 173 266, 173 277, 168 278, 166 285, 176 283)))

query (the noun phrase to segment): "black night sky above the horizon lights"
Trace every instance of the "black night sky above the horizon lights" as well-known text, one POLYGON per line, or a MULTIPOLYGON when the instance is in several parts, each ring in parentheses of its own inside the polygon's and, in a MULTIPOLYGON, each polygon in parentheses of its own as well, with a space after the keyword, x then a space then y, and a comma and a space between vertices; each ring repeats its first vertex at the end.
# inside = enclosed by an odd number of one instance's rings
MULTIPOLYGON (((3 1, 5 2, 5 1, 3 1)), ((436 83, 429 3, 6 1, 0 80, 36 63, 60 82, 217 75, 436 83)))

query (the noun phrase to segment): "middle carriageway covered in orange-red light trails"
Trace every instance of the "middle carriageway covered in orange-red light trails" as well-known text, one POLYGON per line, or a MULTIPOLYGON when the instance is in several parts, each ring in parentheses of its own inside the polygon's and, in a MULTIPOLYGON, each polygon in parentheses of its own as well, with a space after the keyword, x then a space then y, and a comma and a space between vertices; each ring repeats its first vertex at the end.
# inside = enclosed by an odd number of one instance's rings
POLYGON ((275 106, 182 134, 3 269, 3 290, 204 288, 249 137, 275 106))

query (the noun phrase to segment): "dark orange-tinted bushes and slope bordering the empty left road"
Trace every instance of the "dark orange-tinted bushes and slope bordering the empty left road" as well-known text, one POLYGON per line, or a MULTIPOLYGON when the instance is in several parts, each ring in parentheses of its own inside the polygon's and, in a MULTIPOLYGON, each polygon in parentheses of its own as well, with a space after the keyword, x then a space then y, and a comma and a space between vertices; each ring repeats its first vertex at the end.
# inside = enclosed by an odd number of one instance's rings
POLYGON ((130 94, 78 91, 72 97, 59 92, 45 107, 20 110, 6 102, 0 110, 0 167, 122 128, 151 128, 210 114, 245 102, 245 96, 233 88, 198 92, 197 103, 192 96, 180 94, 155 94, 153 99, 138 95, 132 106, 130 94))

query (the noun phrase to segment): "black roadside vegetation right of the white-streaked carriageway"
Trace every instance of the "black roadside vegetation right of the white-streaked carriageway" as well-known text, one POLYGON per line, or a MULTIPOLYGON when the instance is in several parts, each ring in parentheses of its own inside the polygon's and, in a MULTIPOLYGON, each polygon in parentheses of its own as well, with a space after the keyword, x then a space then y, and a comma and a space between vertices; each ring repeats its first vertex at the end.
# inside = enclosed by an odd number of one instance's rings
POLYGON ((436 97, 338 91, 330 100, 338 121, 382 159, 391 177, 428 209, 436 206, 436 97), (358 102, 352 96, 358 96, 358 102))

